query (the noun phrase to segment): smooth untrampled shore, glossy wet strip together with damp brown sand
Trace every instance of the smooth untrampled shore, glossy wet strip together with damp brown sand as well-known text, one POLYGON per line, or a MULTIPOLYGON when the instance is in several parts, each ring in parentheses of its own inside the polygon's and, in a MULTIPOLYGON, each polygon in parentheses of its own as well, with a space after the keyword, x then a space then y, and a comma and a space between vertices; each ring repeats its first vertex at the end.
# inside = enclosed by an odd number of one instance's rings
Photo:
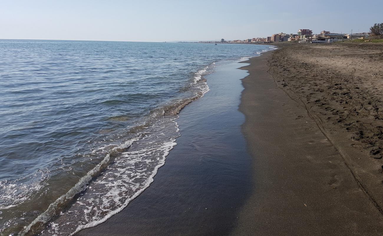
POLYGON ((182 136, 156 181, 75 235, 382 236, 381 186, 286 80, 301 68, 275 56, 289 45, 278 48, 207 75, 215 88, 180 112, 182 136))

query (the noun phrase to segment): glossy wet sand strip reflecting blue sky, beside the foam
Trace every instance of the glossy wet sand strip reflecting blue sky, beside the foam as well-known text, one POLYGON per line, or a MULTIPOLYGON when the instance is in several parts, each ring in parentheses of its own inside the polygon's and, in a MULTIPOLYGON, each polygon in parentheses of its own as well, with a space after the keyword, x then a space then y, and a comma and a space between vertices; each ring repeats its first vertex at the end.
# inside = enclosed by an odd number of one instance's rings
POLYGON ((219 65, 210 87, 180 112, 181 136, 154 182, 121 212, 77 236, 196 236, 228 234, 250 196, 252 158, 238 111, 246 71, 219 65))

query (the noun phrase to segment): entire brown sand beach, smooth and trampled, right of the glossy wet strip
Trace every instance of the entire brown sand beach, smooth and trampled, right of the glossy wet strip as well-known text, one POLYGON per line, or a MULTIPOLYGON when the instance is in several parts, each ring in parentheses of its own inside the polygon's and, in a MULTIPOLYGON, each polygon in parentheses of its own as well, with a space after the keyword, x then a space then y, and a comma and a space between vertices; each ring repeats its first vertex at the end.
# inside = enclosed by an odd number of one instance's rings
POLYGON ((242 68, 255 185, 231 235, 383 235, 383 45, 278 47, 242 68))

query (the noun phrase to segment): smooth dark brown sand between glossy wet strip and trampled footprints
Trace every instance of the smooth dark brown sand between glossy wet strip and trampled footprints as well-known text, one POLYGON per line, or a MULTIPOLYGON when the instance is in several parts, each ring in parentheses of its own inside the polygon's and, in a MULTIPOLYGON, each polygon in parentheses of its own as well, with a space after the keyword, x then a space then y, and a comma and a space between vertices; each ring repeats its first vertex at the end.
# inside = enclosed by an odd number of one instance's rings
MULTIPOLYGON (((289 46, 252 58, 251 65, 242 68, 250 73, 243 79, 240 111, 246 116, 242 130, 254 158, 255 184, 231 235, 383 235, 382 199, 377 197, 381 193, 369 190, 383 190, 381 167, 368 163, 375 168, 375 178, 360 178, 368 170, 349 161, 350 153, 356 155, 351 141, 337 136, 340 128, 334 124, 336 135, 328 136, 326 127, 306 109, 306 101, 283 86, 290 71, 301 85, 307 84, 307 75, 299 77, 295 71, 294 63, 302 62, 294 57, 294 49, 288 63, 283 50, 289 46), (283 74, 273 73, 274 80, 269 69, 283 74)), ((316 50, 311 53, 314 58, 316 50)), ((321 69, 312 65, 318 78, 321 69)))

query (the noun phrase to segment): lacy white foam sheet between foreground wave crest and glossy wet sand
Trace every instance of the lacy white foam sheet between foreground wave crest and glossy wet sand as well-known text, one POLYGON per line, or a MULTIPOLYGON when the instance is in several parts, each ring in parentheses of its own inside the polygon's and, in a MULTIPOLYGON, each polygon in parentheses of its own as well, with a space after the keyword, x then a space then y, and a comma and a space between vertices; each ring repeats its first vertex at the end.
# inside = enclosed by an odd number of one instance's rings
POLYGON ((179 136, 177 118, 178 115, 154 116, 148 126, 150 132, 132 142, 128 152, 116 156, 100 175, 88 183, 77 201, 51 221, 41 235, 73 235, 123 210, 153 182, 158 168, 164 165, 165 157, 176 145, 175 138, 179 136))

